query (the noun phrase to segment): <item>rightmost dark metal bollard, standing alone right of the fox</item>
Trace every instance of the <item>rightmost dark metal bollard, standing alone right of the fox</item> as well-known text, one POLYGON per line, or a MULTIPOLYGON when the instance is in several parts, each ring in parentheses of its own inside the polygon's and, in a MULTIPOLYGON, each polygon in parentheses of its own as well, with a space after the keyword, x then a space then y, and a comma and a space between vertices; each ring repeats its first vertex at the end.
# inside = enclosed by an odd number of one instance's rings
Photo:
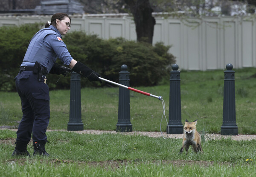
POLYGON ((238 135, 236 125, 235 71, 233 65, 227 64, 224 71, 223 124, 221 135, 238 135))

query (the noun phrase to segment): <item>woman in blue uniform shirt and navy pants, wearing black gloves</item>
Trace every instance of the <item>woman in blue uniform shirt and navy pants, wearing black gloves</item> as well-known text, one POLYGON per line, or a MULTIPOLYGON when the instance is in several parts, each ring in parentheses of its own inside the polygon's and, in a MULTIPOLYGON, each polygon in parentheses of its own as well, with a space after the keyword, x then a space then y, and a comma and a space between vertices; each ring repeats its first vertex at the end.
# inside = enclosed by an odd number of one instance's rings
POLYGON ((15 155, 30 156, 27 144, 32 135, 33 155, 49 154, 45 150, 46 130, 49 124, 49 87, 46 83, 48 73, 66 75, 70 68, 87 77, 89 81, 100 81, 99 74, 73 59, 62 41, 71 27, 71 19, 65 13, 56 13, 44 29, 38 31, 30 40, 29 47, 15 77, 17 92, 21 99, 23 117, 17 130, 15 155), (59 58, 64 67, 56 64, 59 58))

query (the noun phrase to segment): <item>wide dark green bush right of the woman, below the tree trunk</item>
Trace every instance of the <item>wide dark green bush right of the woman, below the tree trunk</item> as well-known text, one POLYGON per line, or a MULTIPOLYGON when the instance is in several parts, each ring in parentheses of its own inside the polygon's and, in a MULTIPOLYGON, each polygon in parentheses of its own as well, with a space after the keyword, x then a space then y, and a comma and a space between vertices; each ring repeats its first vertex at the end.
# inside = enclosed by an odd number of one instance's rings
POLYGON ((104 40, 81 31, 67 34, 64 42, 74 59, 106 79, 118 82, 121 66, 127 65, 132 86, 156 85, 175 63, 175 57, 168 53, 170 46, 161 42, 152 46, 123 38, 104 40))

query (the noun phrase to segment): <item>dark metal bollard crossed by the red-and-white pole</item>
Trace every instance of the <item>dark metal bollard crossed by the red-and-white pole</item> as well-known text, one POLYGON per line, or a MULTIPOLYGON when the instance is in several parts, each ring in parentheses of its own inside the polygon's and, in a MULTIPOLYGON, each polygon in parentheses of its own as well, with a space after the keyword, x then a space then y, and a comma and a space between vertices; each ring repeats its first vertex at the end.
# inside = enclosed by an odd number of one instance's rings
MULTIPOLYGON (((122 65, 119 72, 119 84, 130 86, 129 72, 127 66, 122 65)), ((118 122, 116 132, 132 132, 130 118, 130 90, 119 87, 118 122)))

